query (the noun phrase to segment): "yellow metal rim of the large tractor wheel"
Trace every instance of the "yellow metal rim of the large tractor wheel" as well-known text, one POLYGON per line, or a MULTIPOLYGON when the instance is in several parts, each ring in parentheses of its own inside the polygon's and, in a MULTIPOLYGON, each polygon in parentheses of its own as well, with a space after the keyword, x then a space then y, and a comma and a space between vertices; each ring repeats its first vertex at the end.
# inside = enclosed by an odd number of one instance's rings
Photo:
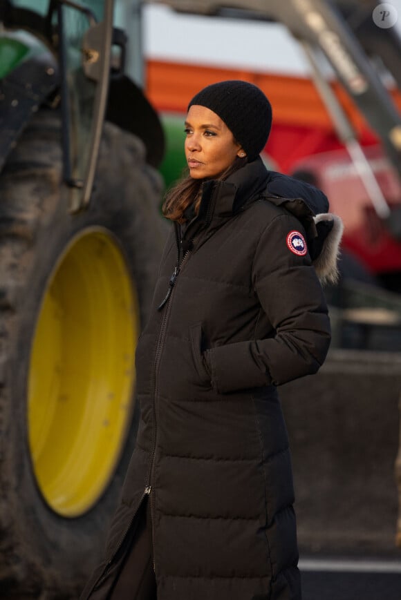
POLYGON ((28 437, 44 499, 58 514, 104 492, 133 410, 138 299, 106 230, 68 245, 47 284, 28 378, 28 437))

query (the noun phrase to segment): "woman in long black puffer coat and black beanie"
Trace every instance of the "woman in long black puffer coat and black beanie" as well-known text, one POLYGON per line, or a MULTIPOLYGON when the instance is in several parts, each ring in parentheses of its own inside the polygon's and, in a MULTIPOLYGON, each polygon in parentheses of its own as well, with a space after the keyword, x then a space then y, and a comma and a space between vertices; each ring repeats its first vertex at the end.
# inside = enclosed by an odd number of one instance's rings
POLYGON ((315 217, 323 193, 266 170, 271 118, 245 81, 189 103, 189 177, 165 201, 174 230, 136 354, 136 449, 82 599, 301 598, 276 387, 324 362, 316 269, 335 278, 341 231, 315 217))

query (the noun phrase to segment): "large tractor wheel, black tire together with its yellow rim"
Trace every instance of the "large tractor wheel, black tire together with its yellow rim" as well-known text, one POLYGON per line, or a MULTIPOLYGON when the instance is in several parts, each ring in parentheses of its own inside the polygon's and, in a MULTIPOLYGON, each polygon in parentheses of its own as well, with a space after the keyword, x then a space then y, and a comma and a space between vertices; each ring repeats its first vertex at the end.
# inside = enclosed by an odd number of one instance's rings
POLYGON ((68 212, 41 110, 0 177, 0 597, 76 599, 135 444, 134 352, 165 230, 142 142, 106 124, 88 210, 68 212))

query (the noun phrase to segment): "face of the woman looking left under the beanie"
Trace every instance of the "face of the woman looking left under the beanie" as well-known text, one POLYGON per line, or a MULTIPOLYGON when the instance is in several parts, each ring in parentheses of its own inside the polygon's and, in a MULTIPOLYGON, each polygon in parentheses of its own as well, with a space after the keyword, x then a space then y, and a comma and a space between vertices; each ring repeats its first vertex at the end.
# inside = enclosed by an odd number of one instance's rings
POLYGON ((189 108, 185 133, 185 157, 194 179, 215 179, 236 156, 245 156, 227 125, 205 106, 189 108))

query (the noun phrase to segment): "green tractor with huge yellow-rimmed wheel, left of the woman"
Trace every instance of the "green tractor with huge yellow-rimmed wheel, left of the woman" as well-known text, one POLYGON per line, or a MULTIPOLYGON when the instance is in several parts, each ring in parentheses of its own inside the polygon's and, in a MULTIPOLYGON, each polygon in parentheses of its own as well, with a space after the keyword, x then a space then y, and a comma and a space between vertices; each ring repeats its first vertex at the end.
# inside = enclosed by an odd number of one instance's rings
POLYGON ((165 138, 112 0, 0 22, 0 596, 72 598, 135 442, 165 138))

